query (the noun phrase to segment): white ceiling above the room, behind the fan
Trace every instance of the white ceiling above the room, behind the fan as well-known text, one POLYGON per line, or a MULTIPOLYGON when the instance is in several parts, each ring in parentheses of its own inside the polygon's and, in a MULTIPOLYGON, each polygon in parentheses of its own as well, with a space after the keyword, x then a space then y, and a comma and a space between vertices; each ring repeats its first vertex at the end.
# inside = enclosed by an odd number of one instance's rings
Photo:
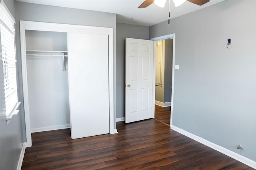
MULTIPOLYGON (((17 0, 21 2, 28 2, 34 4, 44 4, 51 6, 61 6, 68 8, 77 8, 84 10, 93 10, 101 12, 115 13, 116 22, 127 23, 133 25, 151 26, 162 21, 167 21, 168 16, 168 0, 165 7, 160 8, 154 3, 147 8, 140 8, 138 6, 144 0, 17 0)), ((173 0, 170 0, 171 17, 176 18, 190 12, 200 10, 207 6, 222 2, 224 0, 210 0, 210 2, 198 6, 191 2, 184 2, 184 4, 175 7, 173 0)))

